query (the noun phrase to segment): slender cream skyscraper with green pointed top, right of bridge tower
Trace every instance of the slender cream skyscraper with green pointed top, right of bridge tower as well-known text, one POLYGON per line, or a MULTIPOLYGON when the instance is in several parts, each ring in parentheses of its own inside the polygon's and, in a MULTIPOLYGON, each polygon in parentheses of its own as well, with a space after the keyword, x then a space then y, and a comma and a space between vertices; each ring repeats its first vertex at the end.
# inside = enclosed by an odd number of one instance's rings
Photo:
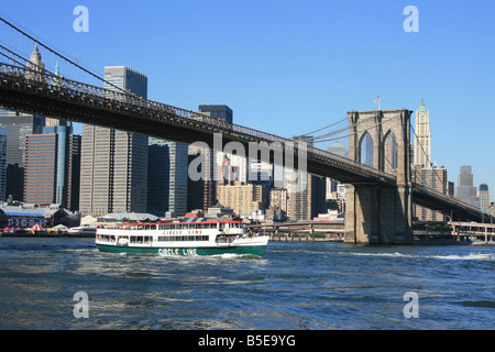
POLYGON ((414 162, 427 167, 431 161, 430 112, 426 109, 425 99, 416 111, 414 162))

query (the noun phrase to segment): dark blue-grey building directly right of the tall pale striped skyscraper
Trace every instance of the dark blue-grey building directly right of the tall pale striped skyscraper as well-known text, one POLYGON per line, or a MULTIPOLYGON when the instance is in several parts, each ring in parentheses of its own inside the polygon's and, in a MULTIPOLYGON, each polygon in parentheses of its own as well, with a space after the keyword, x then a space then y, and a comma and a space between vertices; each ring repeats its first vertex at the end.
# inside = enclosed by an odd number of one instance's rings
POLYGON ((188 145, 150 138, 147 212, 176 218, 187 212, 188 145))

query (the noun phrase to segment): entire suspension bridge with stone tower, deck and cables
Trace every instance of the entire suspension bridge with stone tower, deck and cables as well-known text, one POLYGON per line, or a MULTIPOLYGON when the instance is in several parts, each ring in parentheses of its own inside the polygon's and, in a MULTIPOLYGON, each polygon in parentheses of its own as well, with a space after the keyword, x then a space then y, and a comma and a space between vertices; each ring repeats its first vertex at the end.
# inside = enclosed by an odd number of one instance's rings
MULTIPOLYGON (((346 184, 345 240, 348 242, 411 243, 413 204, 454 216, 455 220, 480 220, 480 209, 415 182, 411 170, 411 111, 373 110, 349 111, 348 127, 324 133, 309 142, 332 140, 345 132, 349 155, 342 157, 309 145, 300 146, 295 139, 278 136, 248 127, 229 123, 206 114, 152 101, 122 90, 86 69, 75 61, 58 54, 53 47, 1 19, 16 37, 31 43, 31 48, 44 50, 57 61, 96 84, 62 77, 44 66, 30 62, 13 46, 0 44, 0 107, 37 116, 138 132, 165 140, 194 143, 205 142, 215 147, 215 135, 222 136, 223 147, 229 142, 264 145, 275 153, 306 157, 308 173, 330 177, 346 184), (101 87, 101 85, 103 87, 101 87), (373 165, 361 163, 361 144, 366 135, 374 141, 373 165), (394 162, 387 158, 387 143, 394 136, 394 162), (392 165, 392 167, 391 167, 392 165)), ((334 125, 337 123, 332 123, 334 125)), ((321 131, 323 129, 320 129, 321 131)), ((314 132, 319 132, 314 131, 314 132)), ((299 138, 306 136, 300 135, 299 138)), ((337 139, 337 138, 336 138, 337 139)), ((299 139, 296 139, 299 140, 299 139)), ((486 217, 486 216, 485 216, 486 217)))

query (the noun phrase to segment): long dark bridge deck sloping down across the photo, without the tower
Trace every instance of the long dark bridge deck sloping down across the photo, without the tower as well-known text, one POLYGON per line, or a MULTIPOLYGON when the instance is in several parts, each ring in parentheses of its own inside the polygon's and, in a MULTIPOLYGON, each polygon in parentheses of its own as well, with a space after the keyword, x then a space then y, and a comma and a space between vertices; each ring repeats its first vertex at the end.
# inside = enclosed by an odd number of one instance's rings
MULTIPOLYGON (((249 144, 253 142, 258 145, 265 143, 267 148, 284 155, 290 152, 294 154, 295 168, 297 168, 299 153, 304 153, 299 151, 297 144, 294 144, 294 140, 275 134, 231 124, 202 113, 146 100, 129 92, 65 79, 48 72, 45 72, 42 79, 28 79, 26 72, 29 72, 26 67, 0 63, 1 107, 188 144, 201 141, 210 147, 215 147, 213 135, 220 133, 222 148, 229 142, 239 142, 244 146, 244 151, 249 151, 249 144)), ((29 74, 36 76, 32 72, 29 74)), ((274 153, 270 155, 273 163, 274 153)), ((393 174, 310 146, 307 146, 307 172, 354 185, 396 186, 397 184, 397 178, 393 174)), ((463 220, 482 218, 481 211, 470 205, 420 185, 413 186, 415 204, 455 213, 463 220)))

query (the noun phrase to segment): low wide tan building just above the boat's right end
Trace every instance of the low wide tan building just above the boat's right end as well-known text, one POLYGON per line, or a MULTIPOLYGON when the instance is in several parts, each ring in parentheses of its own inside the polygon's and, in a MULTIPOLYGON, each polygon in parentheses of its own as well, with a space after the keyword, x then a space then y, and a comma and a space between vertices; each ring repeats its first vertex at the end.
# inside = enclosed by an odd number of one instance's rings
POLYGON ((218 187, 218 201, 221 206, 231 208, 238 216, 251 215, 253 210, 265 210, 266 198, 263 186, 253 184, 223 185, 218 187))

